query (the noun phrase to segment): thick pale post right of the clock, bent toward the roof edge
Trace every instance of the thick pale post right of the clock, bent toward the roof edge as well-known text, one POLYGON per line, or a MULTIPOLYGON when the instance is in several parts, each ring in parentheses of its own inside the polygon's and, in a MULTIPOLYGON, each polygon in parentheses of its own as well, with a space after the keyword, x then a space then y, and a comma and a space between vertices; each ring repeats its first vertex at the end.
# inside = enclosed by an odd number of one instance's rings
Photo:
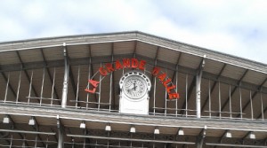
POLYGON ((201 117, 201 103, 200 103, 200 93, 201 93, 201 79, 202 79, 202 71, 205 66, 205 58, 204 55, 199 67, 198 67, 198 74, 196 75, 196 108, 197 108, 197 118, 201 117))

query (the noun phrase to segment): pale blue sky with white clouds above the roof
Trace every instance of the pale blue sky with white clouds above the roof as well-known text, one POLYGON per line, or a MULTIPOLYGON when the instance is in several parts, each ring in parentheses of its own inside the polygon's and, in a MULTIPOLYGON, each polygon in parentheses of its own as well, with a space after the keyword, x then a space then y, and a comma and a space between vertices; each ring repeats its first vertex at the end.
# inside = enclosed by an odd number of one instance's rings
POLYGON ((266 0, 1 0, 0 42, 142 31, 267 64, 266 0))

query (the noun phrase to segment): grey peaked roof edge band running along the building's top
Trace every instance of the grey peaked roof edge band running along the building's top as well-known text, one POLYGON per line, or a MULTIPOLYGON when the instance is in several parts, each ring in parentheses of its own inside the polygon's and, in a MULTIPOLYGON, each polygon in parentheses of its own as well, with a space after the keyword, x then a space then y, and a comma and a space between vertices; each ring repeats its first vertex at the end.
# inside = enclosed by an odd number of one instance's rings
POLYGON ((62 43, 66 43, 67 45, 82 45, 89 43, 117 43, 126 41, 140 41, 142 43, 149 43, 155 46, 163 47, 174 51, 181 51, 198 57, 204 57, 204 55, 206 55, 207 59, 212 59, 217 62, 223 62, 232 66, 239 66, 242 68, 267 74, 266 64, 255 62, 246 58, 239 58, 218 51, 211 51, 195 45, 177 42, 156 35, 142 33, 140 31, 95 35, 69 35, 60 37, 20 40, 14 42, 4 42, 0 43, 0 51, 21 51, 29 49, 59 47, 62 46, 62 43))

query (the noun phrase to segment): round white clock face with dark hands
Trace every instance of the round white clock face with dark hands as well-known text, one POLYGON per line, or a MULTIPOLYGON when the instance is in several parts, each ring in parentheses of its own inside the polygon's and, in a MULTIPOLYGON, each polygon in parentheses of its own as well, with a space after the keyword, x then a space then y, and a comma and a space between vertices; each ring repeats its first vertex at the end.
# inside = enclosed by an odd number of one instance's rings
POLYGON ((138 75, 131 75, 125 78, 123 90, 125 95, 130 98, 138 99, 145 95, 147 84, 145 80, 138 75))

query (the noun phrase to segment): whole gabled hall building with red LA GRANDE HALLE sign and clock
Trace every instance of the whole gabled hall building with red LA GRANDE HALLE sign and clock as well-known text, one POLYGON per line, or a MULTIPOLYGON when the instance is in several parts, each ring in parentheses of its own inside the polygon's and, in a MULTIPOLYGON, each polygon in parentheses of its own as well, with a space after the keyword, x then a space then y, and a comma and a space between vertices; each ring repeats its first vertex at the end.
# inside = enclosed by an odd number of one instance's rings
POLYGON ((267 65, 142 32, 0 43, 0 145, 267 147, 267 65))

